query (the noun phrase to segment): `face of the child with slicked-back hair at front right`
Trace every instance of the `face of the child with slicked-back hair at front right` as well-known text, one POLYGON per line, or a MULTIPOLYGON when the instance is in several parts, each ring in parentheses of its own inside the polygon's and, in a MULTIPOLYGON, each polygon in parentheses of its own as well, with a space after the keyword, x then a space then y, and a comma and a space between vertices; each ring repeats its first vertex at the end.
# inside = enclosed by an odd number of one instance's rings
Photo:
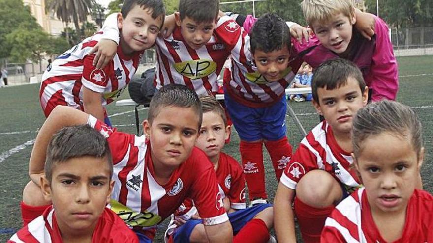
MULTIPOLYGON (((417 155, 411 139, 392 133, 371 135, 354 157, 374 212, 404 212, 419 180, 424 148, 417 155)), ((352 154, 352 156, 354 156, 352 154)))

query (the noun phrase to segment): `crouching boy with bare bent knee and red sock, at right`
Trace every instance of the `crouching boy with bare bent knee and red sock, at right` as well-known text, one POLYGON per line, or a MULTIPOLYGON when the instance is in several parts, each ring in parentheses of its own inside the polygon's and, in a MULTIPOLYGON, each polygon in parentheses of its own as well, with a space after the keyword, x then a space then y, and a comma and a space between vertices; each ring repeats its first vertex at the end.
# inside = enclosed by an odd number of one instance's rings
POLYGON ((312 94, 325 120, 301 141, 281 176, 274 200, 278 242, 296 241, 294 213, 304 242, 319 242, 334 205, 361 186, 350 169, 352 116, 368 98, 361 71, 345 59, 326 61, 314 72, 312 94))

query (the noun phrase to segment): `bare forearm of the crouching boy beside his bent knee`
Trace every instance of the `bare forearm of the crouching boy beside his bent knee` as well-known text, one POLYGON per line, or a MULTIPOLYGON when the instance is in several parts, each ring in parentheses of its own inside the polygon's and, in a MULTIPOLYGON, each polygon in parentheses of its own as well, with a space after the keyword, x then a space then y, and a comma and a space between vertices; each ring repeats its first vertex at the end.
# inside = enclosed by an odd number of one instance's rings
POLYGON ((274 228, 279 243, 296 242, 292 208, 295 190, 279 182, 274 198, 274 228))

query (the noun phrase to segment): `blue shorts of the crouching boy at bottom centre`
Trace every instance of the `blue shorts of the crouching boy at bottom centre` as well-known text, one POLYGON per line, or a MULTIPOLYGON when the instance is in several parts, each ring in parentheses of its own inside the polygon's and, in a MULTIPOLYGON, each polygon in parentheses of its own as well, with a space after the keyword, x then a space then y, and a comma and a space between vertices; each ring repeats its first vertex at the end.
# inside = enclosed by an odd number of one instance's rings
MULTIPOLYGON (((257 204, 253 207, 240 209, 236 212, 228 214, 228 219, 233 228, 233 234, 236 235, 247 222, 251 221, 258 213, 262 212, 272 204, 257 204)), ((188 243, 192 230, 197 224, 201 224, 202 220, 190 219, 181 227, 176 228, 173 232, 173 240, 175 243, 188 243)))

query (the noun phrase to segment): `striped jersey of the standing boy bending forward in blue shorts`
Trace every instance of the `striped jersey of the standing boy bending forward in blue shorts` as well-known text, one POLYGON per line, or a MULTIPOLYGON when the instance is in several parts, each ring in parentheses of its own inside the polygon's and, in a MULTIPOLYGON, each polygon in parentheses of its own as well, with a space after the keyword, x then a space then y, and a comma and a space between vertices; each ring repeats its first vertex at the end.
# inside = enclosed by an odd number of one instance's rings
POLYGON ((285 95, 285 88, 301 67, 302 59, 297 57, 297 53, 291 48, 291 59, 284 78, 269 82, 257 71, 250 51, 249 36, 243 30, 242 36, 231 52, 230 72, 224 72, 225 90, 230 97, 243 105, 255 108, 268 107, 285 95))

